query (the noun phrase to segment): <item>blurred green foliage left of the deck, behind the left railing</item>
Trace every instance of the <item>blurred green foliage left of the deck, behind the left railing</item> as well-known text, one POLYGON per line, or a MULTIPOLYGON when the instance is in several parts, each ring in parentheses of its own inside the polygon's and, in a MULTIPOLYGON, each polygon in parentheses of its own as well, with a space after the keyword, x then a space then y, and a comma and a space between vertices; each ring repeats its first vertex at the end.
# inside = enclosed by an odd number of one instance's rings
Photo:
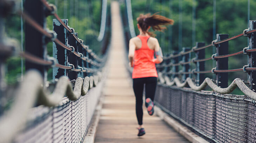
MULTIPOLYGON (((25 0, 23 0, 25 1, 25 0)), ((47 0, 57 7, 57 14, 61 19, 68 19, 68 25, 78 32, 78 37, 85 41, 86 45, 100 54, 100 45, 97 37, 101 23, 102 0, 47 0)), ((54 16, 46 18, 47 28, 53 29, 54 16)), ((5 18, 5 35, 21 42, 21 18, 18 15, 10 15, 5 18)), ((23 41, 23 45, 25 40, 23 41)), ((52 42, 47 44, 48 55, 52 57, 52 42)), ((24 47, 25 49, 25 47, 24 47)), ((24 62, 25 64, 25 62, 24 62)), ((21 58, 11 57, 6 62, 6 81, 15 83, 21 76, 21 58)), ((24 65, 25 69, 25 65, 24 65)), ((25 71, 25 70, 24 70, 25 71)), ((52 79, 52 68, 48 70, 48 80, 52 79)))

